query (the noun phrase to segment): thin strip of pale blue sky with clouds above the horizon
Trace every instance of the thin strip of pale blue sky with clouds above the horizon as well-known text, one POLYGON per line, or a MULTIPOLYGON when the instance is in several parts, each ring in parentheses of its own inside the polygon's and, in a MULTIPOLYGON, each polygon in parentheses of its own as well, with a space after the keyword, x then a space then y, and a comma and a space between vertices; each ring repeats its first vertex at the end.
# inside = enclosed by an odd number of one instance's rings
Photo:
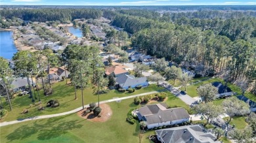
POLYGON ((256 5, 256 0, 0 0, 0 5, 256 5))

